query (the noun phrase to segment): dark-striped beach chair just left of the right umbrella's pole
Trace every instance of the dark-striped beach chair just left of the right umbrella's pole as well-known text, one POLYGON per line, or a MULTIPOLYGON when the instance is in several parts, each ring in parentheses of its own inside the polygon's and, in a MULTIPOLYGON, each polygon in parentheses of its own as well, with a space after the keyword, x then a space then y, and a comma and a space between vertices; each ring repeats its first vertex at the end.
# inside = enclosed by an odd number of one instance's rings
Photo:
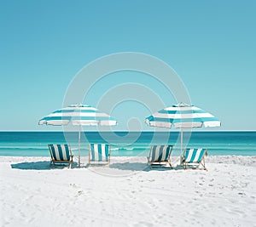
POLYGON ((171 165, 172 145, 152 145, 148 156, 148 165, 150 167, 161 167, 163 164, 171 165))

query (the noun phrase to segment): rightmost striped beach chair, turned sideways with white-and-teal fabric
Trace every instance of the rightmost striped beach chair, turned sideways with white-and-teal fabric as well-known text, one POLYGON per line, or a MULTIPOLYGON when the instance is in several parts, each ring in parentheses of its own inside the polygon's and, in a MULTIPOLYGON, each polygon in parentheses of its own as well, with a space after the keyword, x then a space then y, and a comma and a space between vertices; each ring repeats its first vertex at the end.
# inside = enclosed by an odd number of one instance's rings
POLYGON ((194 166, 195 168, 203 167, 207 170, 205 163, 205 156, 207 156, 207 149, 203 148, 187 148, 183 154, 183 168, 187 169, 188 166, 194 166))

